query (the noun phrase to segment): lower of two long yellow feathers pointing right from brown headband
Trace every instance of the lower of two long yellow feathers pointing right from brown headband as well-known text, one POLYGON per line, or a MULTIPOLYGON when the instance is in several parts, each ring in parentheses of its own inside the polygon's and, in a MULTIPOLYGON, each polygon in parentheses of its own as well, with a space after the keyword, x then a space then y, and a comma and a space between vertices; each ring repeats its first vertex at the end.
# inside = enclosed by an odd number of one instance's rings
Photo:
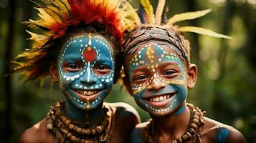
POLYGON ((202 27, 183 26, 183 27, 179 27, 178 30, 179 31, 184 31, 184 32, 194 32, 196 34, 214 36, 214 37, 217 37, 217 38, 232 39, 231 36, 227 36, 227 35, 223 35, 223 34, 218 34, 215 31, 212 31, 212 30, 209 30, 209 29, 204 29, 202 27))

